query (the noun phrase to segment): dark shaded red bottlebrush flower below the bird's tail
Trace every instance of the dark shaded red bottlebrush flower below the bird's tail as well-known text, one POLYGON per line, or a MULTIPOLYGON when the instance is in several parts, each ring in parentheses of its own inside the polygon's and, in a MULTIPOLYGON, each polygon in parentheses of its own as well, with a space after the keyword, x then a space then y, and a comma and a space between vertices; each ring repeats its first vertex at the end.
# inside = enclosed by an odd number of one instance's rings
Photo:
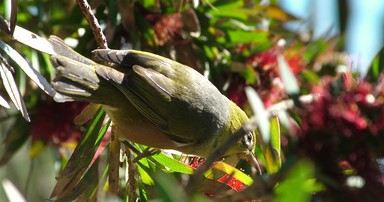
POLYGON ((78 139, 81 133, 75 129, 72 121, 86 105, 87 103, 83 102, 56 103, 52 100, 44 102, 32 119, 33 140, 60 144, 70 139, 78 139))

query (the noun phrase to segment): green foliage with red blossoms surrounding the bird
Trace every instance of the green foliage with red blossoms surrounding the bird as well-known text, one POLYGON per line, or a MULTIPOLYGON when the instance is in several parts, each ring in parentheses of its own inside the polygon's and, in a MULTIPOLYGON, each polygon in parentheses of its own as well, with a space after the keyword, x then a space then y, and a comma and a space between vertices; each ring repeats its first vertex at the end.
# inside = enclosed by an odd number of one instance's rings
MULTIPOLYGON (((28 155, 21 149, 25 145, 32 159, 54 151, 56 162, 50 163, 60 164, 59 177, 55 187, 34 196, 39 200, 382 198, 383 51, 367 78, 359 79, 341 52, 342 36, 302 39, 302 33, 282 28, 297 19, 274 1, 92 1, 109 48, 145 50, 191 66, 257 117, 255 155, 263 176, 254 175, 245 162, 237 168, 216 162, 191 193, 186 184, 204 159, 130 143, 120 144, 116 162, 107 155, 113 133, 99 106, 53 102, 46 81, 54 76, 49 56, 24 45, 33 47, 31 42, 12 40, 12 33, 20 33, 17 24, 38 36, 66 39, 91 58, 98 45, 79 6, 9 2, 9 7, 0 5, 12 13, 9 24, 0 19, 0 105, 10 108, 1 111, 0 165, 6 167, 19 151, 28 155), (116 164, 119 189, 113 190, 107 178, 112 179, 108 174, 116 164)), ((21 184, 38 189, 32 182, 21 184)), ((21 195, 30 199, 26 190, 21 195)))

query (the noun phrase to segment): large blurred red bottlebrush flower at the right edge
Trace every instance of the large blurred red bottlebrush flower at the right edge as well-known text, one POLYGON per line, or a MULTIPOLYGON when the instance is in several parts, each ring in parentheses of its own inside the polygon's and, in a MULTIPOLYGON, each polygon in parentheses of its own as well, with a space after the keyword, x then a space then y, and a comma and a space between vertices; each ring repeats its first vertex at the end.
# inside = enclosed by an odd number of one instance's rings
POLYGON ((342 77, 348 78, 341 82, 343 86, 333 85, 333 81, 340 84, 340 78, 327 77, 312 89, 317 98, 299 112, 299 148, 335 184, 346 184, 345 170, 364 179, 361 189, 328 186, 331 195, 379 199, 384 187, 376 159, 384 157, 384 94, 371 83, 356 82, 349 76, 342 77))

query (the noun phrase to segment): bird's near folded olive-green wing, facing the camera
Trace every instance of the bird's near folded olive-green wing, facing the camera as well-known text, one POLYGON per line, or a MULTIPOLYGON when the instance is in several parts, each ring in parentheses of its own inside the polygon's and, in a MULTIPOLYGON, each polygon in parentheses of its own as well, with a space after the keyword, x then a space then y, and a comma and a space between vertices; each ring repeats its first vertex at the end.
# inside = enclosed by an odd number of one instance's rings
MULTIPOLYGON (((200 131, 191 127, 196 112, 172 95, 172 80, 153 69, 133 66, 121 84, 115 83, 126 98, 147 119, 172 140, 182 144, 199 141, 200 131), (187 119, 190 117, 192 120, 187 119)), ((197 120, 199 122, 199 120, 197 120)))

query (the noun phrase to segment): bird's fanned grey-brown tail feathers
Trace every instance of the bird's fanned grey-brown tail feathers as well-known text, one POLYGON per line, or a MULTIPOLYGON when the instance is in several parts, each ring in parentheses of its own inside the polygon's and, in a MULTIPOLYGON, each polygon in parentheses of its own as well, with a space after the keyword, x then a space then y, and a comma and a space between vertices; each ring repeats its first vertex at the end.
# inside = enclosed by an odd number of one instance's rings
POLYGON ((103 67, 92 60, 78 54, 60 38, 49 38, 56 54, 51 56, 51 63, 56 68, 56 77, 52 81, 57 91, 54 100, 57 102, 88 101, 103 103, 111 85, 96 73, 97 67, 103 67))

